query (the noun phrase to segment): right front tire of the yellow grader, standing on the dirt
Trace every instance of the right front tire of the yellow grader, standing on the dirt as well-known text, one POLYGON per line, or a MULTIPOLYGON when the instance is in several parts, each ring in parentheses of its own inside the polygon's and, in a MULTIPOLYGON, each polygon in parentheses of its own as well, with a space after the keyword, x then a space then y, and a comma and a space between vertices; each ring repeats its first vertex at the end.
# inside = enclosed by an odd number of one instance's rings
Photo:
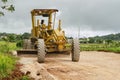
POLYGON ((73 39, 73 41, 72 41, 72 61, 78 62, 79 57, 80 57, 79 39, 73 39))

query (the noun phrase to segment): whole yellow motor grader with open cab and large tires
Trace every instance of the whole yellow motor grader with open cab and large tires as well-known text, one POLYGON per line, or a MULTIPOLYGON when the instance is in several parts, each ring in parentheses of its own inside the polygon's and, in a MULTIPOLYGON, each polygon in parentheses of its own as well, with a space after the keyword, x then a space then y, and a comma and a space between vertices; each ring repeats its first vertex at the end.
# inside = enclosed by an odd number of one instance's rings
POLYGON ((55 27, 57 9, 34 9, 31 11, 32 30, 30 39, 25 39, 23 49, 20 52, 36 52, 38 62, 45 61, 47 52, 71 51, 72 61, 79 61, 79 39, 68 40, 61 28, 61 20, 55 27))

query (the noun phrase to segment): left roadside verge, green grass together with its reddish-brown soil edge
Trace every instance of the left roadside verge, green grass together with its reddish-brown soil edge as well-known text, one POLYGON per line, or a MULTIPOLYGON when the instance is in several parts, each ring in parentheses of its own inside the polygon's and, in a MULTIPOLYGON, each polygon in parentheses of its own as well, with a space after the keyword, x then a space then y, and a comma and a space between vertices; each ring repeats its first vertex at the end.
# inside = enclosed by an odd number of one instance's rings
POLYGON ((0 80, 33 80, 20 71, 18 58, 9 54, 12 50, 18 50, 16 43, 0 41, 0 80))

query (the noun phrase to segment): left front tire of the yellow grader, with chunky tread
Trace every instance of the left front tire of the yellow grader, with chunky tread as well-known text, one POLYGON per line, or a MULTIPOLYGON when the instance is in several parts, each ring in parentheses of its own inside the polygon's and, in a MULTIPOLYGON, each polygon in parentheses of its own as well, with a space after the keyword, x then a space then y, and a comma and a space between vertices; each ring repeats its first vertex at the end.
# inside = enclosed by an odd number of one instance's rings
POLYGON ((45 61, 45 45, 43 39, 38 39, 38 62, 43 63, 45 61))

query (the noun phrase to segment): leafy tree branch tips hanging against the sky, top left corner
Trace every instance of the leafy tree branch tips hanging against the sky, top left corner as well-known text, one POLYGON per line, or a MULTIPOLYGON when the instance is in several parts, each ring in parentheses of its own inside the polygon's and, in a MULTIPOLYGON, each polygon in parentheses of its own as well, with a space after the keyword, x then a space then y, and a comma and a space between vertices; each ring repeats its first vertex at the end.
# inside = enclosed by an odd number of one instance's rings
POLYGON ((15 11, 14 6, 12 4, 9 5, 7 3, 9 3, 8 0, 1 0, 0 1, 0 5, 1 5, 0 6, 1 7, 1 9, 0 9, 0 16, 4 16, 5 15, 3 10, 7 10, 7 11, 10 11, 10 12, 15 11))

